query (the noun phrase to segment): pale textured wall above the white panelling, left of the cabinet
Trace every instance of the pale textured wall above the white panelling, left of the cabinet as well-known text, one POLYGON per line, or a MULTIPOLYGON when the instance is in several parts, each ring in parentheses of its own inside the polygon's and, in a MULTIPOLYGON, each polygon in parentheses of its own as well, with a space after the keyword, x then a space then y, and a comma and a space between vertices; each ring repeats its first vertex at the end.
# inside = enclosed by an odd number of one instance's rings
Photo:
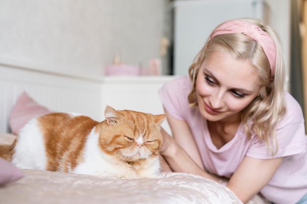
POLYGON ((101 74, 159 58, 167 0, 0 0, 0 62, 101 74))

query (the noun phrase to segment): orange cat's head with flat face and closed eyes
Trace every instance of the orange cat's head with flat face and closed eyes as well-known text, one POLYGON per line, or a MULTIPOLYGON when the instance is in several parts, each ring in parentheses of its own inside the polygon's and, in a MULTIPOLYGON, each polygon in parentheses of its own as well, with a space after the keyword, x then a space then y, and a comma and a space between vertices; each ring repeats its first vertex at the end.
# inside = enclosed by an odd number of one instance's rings
POLYGON ((100 128, 100 147, 122 161, 136 161, 159 155, 162 144, 160 124, 166 114, 153 115, 107 106, 100 128))

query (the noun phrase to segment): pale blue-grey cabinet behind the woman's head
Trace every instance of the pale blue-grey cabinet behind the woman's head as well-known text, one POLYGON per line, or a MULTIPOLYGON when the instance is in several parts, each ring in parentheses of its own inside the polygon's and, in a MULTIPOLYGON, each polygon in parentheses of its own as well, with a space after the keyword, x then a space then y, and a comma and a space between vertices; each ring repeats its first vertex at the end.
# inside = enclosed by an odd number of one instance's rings
POLYGON ((175 4, 174 73, 187 75, 197 53, 220 23, 263 19, 263 0, 178 0, 175 4))

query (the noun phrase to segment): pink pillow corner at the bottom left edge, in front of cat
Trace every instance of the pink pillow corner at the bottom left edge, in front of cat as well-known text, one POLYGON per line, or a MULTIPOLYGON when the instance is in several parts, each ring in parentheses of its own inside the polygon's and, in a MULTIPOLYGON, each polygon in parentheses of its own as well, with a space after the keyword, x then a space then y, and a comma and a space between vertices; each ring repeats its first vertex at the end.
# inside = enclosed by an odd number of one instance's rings
POLYGON ((0 185, 16 181, 24 176, 24 172, 7 160, 0 158, 0 185))

